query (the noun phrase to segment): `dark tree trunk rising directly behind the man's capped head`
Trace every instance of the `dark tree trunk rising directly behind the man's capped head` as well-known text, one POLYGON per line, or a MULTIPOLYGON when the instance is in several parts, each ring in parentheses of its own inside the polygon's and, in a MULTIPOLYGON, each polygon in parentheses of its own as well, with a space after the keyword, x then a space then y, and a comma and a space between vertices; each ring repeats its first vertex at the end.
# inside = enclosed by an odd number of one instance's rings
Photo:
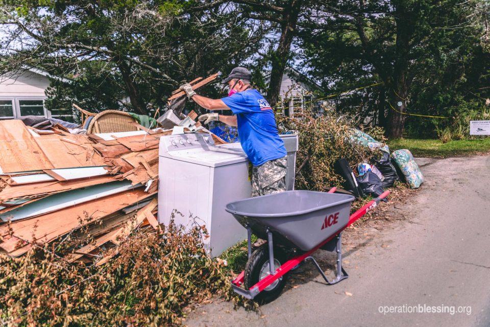
POLYGON ((279 100, 281 91, 282 76, 286 68, 289 52, 291 49, 292 38, 296 33, 298 15, 304 0, 292 0, 283 13, 283 23, 281 24, 281 38, 279 45, 272 57, 271 81, 267 92, 267 100, 271 106, 275 106, 279 100))

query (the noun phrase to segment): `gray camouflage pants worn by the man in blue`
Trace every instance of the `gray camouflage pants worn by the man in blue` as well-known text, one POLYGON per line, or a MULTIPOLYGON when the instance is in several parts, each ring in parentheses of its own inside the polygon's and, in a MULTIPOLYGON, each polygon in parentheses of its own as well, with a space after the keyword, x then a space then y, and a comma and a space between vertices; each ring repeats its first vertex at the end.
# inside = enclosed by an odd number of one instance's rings
POLYGON ((252 196, 286 191, 286 157, 252 168, 252 196))

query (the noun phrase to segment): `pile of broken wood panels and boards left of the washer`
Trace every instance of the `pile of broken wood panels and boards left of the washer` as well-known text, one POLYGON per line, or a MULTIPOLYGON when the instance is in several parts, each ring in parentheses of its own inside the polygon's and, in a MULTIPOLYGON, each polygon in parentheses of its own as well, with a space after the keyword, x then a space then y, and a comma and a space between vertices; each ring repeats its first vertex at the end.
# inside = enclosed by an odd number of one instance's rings
POLYGON ((159 139, 173 131, 81 135, 0 121, 0 251, 20 256, 69 235, 80 245, 67 260, 104 256, 101 265, 135 226, 159 228, 159 139))

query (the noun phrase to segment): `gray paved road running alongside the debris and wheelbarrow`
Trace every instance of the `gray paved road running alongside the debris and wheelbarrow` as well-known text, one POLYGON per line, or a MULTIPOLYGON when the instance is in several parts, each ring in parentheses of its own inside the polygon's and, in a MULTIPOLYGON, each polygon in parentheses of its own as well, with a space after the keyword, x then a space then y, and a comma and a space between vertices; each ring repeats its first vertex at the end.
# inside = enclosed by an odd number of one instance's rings
POLYGON ((371 231, 372 237, 347 249, 348 279, 326 286, 309 269, 303 274, 311 273, 311 278, 295 288, 286 286, 258 313, 235 311, 230 303, 217 302, 192 313, 186 323, 490 326, 490 157, 419 158, 418 162, 426 180, 423 188, 411 204, 394 208, 391 214, 405 219, 371 231), (385 306, 405 311, 425 306, 446 312, 380 313, 385 306), (450 313, 458 309, 464 312, 450 313))

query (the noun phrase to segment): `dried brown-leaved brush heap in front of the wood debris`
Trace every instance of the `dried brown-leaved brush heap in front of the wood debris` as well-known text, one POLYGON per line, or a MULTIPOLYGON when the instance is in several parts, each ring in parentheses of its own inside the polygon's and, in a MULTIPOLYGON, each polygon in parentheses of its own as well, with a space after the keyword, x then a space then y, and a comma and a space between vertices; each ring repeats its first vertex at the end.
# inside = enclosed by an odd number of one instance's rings
POLYGON ((137 230, 102 267, 66 262, 53 252, 60 242, 21 258, 0 254, 0 316, 12 325, 179 324, 192 301, 233 294, 202 236, 198 226, 137 230))

